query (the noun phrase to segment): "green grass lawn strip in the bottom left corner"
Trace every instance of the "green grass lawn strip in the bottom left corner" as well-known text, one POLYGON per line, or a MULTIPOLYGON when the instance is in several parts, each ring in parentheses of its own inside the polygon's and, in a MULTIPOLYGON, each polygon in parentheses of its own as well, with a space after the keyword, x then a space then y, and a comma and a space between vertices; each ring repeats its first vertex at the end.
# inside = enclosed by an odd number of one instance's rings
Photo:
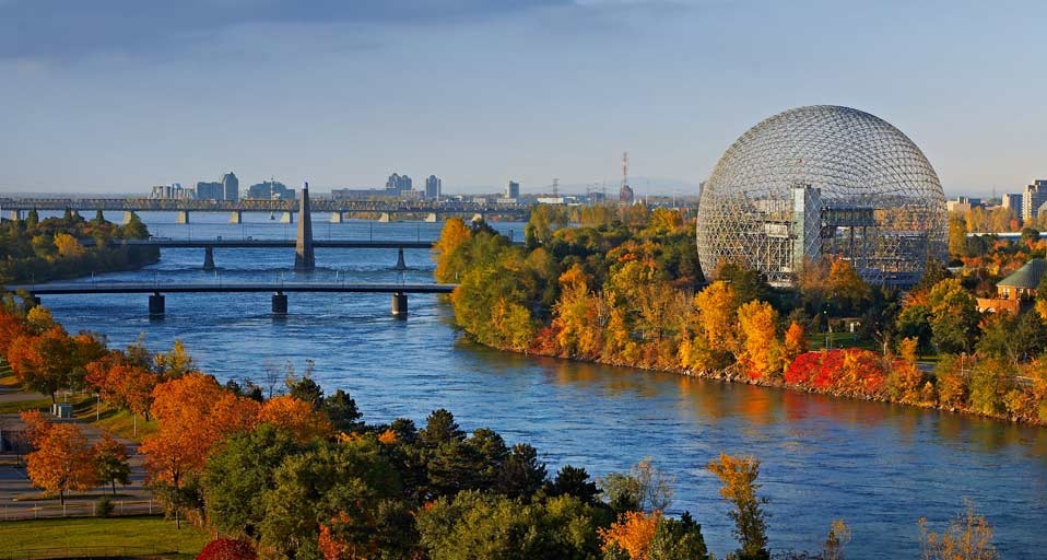
POLYGON ((120 553, 120 547, 127 547, 126 555, 150 556, 173 552, 170 558, 196 558, 211 536, 197 527, 183 523, 181 529, 175 528, 175 522, 162 517, 117 517, 117 518, 74 518, 74 520, 35 520, 0 523, 0 558, 24 558, 19 551, 69 548, 81 556, 102 552, 103 548, 111 553, 120 553))

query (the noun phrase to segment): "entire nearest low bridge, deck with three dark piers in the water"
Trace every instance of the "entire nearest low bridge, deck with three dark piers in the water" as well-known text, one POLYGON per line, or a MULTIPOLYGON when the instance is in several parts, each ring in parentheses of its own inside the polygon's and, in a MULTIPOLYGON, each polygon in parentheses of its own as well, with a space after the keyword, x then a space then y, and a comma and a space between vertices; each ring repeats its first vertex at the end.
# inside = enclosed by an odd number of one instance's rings
POLYGON ((392 294, 392 316, 407 318, 409 293, 450 293, 457 284, 436 283, 352 283, 352 282, 50 282, 46 284, 21 284, 3 287, 9 292, 28 294, 28 301, 38 305, 42 295, 56 294, 108 294, 108 293, 148 293, 149 315, 163 317, 165 293, 250 293, 272 292, 272 314, 287 314, 287 293, 390 293, 392 294))

